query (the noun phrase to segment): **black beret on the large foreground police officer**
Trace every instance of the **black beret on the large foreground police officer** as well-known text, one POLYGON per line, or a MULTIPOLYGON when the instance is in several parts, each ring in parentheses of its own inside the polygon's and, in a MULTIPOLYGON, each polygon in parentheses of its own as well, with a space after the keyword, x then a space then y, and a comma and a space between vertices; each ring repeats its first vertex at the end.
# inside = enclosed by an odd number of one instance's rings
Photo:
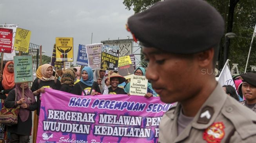
POLYGON ((128 19, 127 28, 144 46, 194 54, 218 46, 224 32, 220 13, 204 0, 165 0, 128 19))

